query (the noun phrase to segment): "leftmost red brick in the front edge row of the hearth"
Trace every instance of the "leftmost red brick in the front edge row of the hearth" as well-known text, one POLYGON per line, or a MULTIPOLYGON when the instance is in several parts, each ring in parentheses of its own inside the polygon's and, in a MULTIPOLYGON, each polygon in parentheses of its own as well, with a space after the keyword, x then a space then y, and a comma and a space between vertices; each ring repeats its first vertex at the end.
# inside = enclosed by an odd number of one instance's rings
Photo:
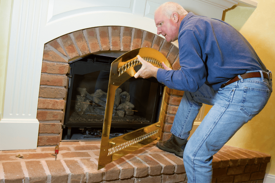
POLYGON ((5 183, 24 182, 25 176, 20 162, 3 162, 5 183))

